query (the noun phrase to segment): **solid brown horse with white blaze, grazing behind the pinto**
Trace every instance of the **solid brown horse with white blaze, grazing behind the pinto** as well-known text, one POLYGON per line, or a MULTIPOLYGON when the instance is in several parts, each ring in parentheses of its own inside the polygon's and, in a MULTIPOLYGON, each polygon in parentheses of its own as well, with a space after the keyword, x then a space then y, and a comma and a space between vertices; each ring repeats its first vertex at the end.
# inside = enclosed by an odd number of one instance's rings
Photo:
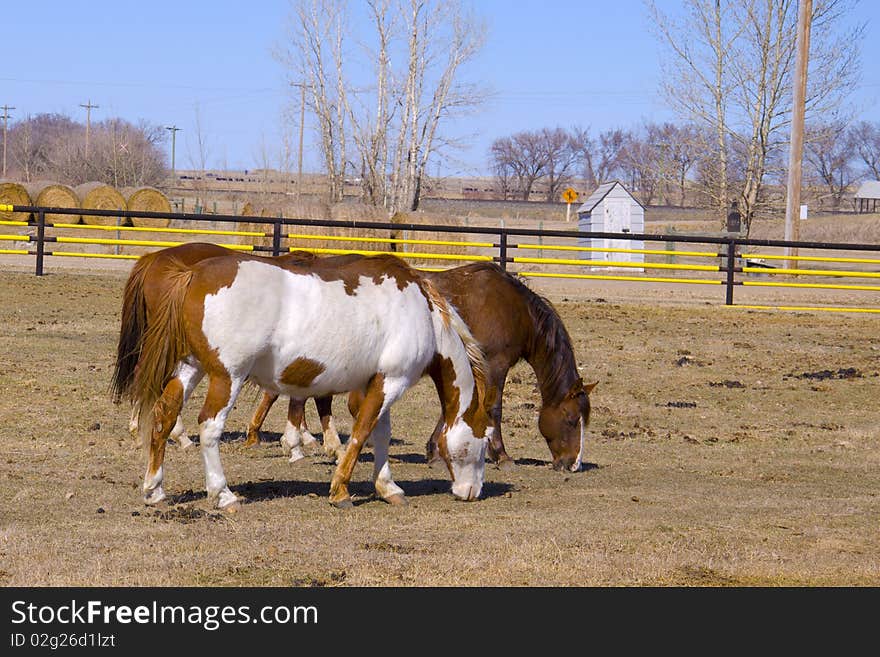
MULTIPOLYGON (((425 277, 455 306, 486 357, 487 379, 495 388, 491 411, 495 430, 489 441, 489 457, 499 467, 513 463, 502 440, 501 404, 508 371, 524 359, 532 366, 541 391, 538 429, 550 448, 553 467, 579 470, 590 421, 589 393, 596 383, 584 384, 578 374, 571 337, 552 304, 494 264, 465 265, 426 273, 425 277)), ((262 415, 255 414, 249 425, 253 442, 258 440, 262 418, 275 398, 264 393, 259 408, 262 415)), ((317 403, 326 409, 326 415, 319 409, 326 426, 329 400, 317 403)), ((353 392, 349 407, 357 409, 358 404, 358 393, 353 392)), ((291 399, 289 418, 297 427, 302 425, 303 411, 304 401, 291 399)), ((439 458, 437 439, 442 427, 441 418, 426 446, 429 462, 439 458)))

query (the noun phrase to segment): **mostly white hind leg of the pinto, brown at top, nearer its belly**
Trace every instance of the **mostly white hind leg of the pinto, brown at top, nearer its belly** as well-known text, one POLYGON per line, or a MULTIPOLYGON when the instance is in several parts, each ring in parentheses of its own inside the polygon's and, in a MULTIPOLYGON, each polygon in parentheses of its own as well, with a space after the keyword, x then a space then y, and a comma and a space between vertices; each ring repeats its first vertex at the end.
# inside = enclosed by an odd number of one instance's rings
POLYGON ((205 488, 208 499, 216 500, 218 508, 234 511, 238 497, 226 485, 226 475, 220 463, 220 436, 226 416, 235 404, 242 379, 215 374, 208 381, 208 394, 199 413, 199 443, 205 465, 205 488))

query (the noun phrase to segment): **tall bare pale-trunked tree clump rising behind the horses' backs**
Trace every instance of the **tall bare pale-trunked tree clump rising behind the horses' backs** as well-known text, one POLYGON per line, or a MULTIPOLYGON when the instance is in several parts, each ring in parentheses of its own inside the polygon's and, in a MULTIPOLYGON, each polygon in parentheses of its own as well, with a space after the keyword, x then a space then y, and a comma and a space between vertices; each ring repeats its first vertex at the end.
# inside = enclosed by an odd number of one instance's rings
POLYGON ((351 140, 364 198, 394 214, 418 208, 430 158, 447 143, 442 121, 481 100, 457 78, 485 30, 458 0, 370 0, 368 8, 374 46, 362 48, 366 58, 350 57, 345 4, 294 0, 293 48, 279 60, 309 91, 331 200, 341 198, 351 140), (349 70, 352 61, 361 69, 349 70), (363 84, 364 66, 375 84, 363 84))

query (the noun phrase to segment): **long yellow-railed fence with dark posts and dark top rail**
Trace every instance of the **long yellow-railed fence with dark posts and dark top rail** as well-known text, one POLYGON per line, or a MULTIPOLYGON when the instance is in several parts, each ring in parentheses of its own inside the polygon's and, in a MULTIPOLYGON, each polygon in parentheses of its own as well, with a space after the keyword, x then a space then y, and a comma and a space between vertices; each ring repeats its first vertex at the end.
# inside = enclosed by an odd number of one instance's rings
MULTIPOLYGON (((138 247, 146 249, 167 248, 187 243, 192 237, 238 237, 243 238, 241 243, 219 243, 228 249, 243 252, 253 252, 268 255, 278 254, 284 251, 308 251, 322 255, 358 254, 363 256, 375 256, 391 253, 397 257, 415 261, 414 266, 425 271, 440 271, 443 267, 457 266, 467 262, 497 262, 503 268, 514 271, 523 278, 533 279, 569 279, 569 280, 597 280, 597 281, 623 281, 632 283, 663 283, 679 285, 714 285, 726 287, 727 305, 733 304, 733 290, 746 288, 791 288, 813 289, 819 291, 842 291, 853 292, 847 295, 847 300, 860 298, 861 293, 880 292, 880 253, 877 257, 864 255, 864 252, 878 252, 878 245, 843 245, 826 243, 806 242, 782 242, 774 240, 745 240, 736 236, 699 236, 687 235, 635 235, 629 233, 582 233, 579 231, 526 231, 498 229, 488 227, 462 227, 462 226, 427 226, 415 224, 391 224, 387 222, 346 222, 346 221, 323 221, 304 220, 297 222, 295 219, 282 217, 263 218, 258 222, 266 226, 265 230, 223 230, 213 228, 178 228, 178 227, 150 227, 150 226, 120 226, 120 225, 96 225, 63 222, 46 222, 48 212, 54 212, 56 208, 36 208, 30 206, 0 205, 0 212, 28 212, 35 217, 31 221, 0 220, 0 226, 28 228, 27 233, 20 231, 19 234, 0 234, 0 244, 9 242, 27 242, 29 245, 36 244, 31 249, 0 249, 0 254, 10 255, 35 255, 37 258, 37 273, 42 272, 43 256, 60 256, 68 258, 106 258, 112 260, 135 260, 138 253, 121 253, 121 247, 138 247), (293 226, 303 225, 313 230, 314 228, 334 228, 333 234, 321 234, 321 230, 315 232, 297 232, 291 230, 293 226), (284 229, 282 231, 282 228, 284 229), (36 230, 34 230, 36 229, 36 230), (54 230, 83 232, 82 237, 70 234, 53 233, 54 230), (343 231, 349 230, 380 230, 376 236, 346 235, 343 231), (115 233, 114 233, 115 231, 115 233), (393 237, 383 237, 391 231, 393 237), (454 233, 458 240, 450 239, 419 239, 418 231, 429 233, 454 233), (93 232, 96 235, 104 234, 106 237, 93 237, 88 235, 93 232), (36 233, 36 234, 31 234, 36 233), (415 233, 415 237, 411 235, 415 233), (168 239, 163 239, 167 235, 168 239), (399 237, 398 235, 403 235, 399 237), (479 235, 477 239, 473 236, 479 235), (156 238, 159 239, 156 239, 156 238), (513 238, 526 237, 529 241, 514 241, 513 238), (267 245, 265 238, 271 243, 267 245), (468 239, 470 238, 470 239, 468 239), (535 243, 534 238, 538 238, 535 243), (593 239, 591 246, 573 244, 575 240, 593 239), (597 239, 613 239, 614 246, 596 245, 597 239), (666 248, 621 248, 617 240, 635 240, 638 246, 643 243, 661 243, 666 248), (282 243, 282 240, 285 240, 282 243), (568 243, 565 243, 565 241, 568 243), (315 244, 314 246, 310 246, 315 244), (55 250, 52 245, 60 248, 55 250), (339 248, 328 248, 338 244, 339 248), (676 248, 680 244, 708 246, 704 248, 676 248), (79 252, 72 248, 65 249, 65 245, 96 245, 109 247, 102 249, 109 251, 104 253, 79 252), (364 245, 366 248, 348 248, 354 245, 364 245), (418 251, 388 251, 372 250, 370 247, 378 245, 391 247, 436 247, 431 249, 419 249, 418 251), (596 245, 596 246, 593 246, 596 245), (808 254, 788 255, 772 252, 774 248, 796 246, 810 249, 808 254), (744 247, 757 247, 754 253, 742 253, 744 247), (762 248, 767 247, 767 248, 762 248), (853 252, 852 256, 824 255, 817 250, 837 249, 853 252), (115 252, 114 252, 115 251, 115 252), (460 252, 456 252, 460 251, 460 252), (545 257, 546 254, 559 255, 561 257, 545 257), (571 254, 568 256, 568 254, 571 254), (583 259, 581 259, 583 254, 583 259), (596 259, 592 254, 605 254, 612 258, 609 260, 596 259), (540 256, 540 257, 533 257, 540 256), (568 257, 567 257, 568 256, 568 257), (619 257, 616 257, 619 256, 619 257), (641 258, 628 258, 627 256, 643 256, 641 258), (648 256, 651 256, 650 258, 648 256), (684 261, 675 262, 677 258, 684 261), (665 259, 665 260, 664 260, 665 259), (703 264, 688 261, 687 259, 710 259, 715 262, 709 264, 703 260, 703 264), (822 269, 818 267, 776 267, 757 266, 755 261, 766 260, 774 264, 780 260, 792 263, 828 263, 833 266, 840 264, 837 269, 822 269), (440 263, 439 266, 432 266, 440 263), (862 265, 858 267, 858 265, 862 265), (874 267, 872 267, 874 266, 874 267), (533 269, 533 270, 529 270, 533 269), (630 270, 619 273, 613 270, 630 270), (668 272, 668 274, 664 274, 668 272), (688 276, 687 272, 695 272, 696 275, 688 276), (712 274, 715 274, 714 276, 712 274), (775 280, 767 280, 767 279, 775 280), (832 279, 832 280, 822 280, 832 279), (763 280, 762 280, 763 279, 763 280), (814 280, 809 280, 814 279, 814 280), (845 279, 845 280, 844 280, 845 279), (850 279, 863 279, 861 281, 850 279), (869 279, 869 280, 865 280, 869 279), (876 282, 876 284, 875 284, 876 282), (859 294, 855 294, 859 293, 859 294)), ((89 211, 78 209, 75 213, 86 214, 89 211)), ((152 216, 147 213, 117 212, 117 211, 91 211, 93 214, 101 214, 108 217, 137 217, 152 216)), ((62 212, 63 214, 63 212, 62 212)), ((220 215, 183 215, 179 213, 163 213, 161 218, 175 218, 179 220, 191 220, 196 222, 227 221, 248 222, 246 216, 220 216, 220 215)), ((216 224, 214 224, 216 225, 216 224)), ((253 224, 251 224, 253 225, 253 224)), ((237 226, 236 226, 237 227, 237 226)), ((330 232, 330 231, 323 231, 330 232)), ((12 231, 7 231, 12 233, 12 231)), ((443 235, 441 235, 443 237, 443 235)), ((650 246, 650 245, 649 245, 650 246)), ((94 251, 97 249, 90 249, 94 251)), ((601 257, 601 256, 599 256, 601 257)), ((784 263, 783 263, 784 264, 784 263)), ((821 265, 820 265, 821 266, 821 265)), ((744 295, 751 298, 761 299, 760 295, 744 295)), ((814 296, 818 297, 818 293, 814 296)), ((803 297, 807 298, 807 297, 803 297)), ((866 312, 877 313, 880 309, 831 307, 825 306, 821 301, 815 305, 753 305, 736 304, 737 307, 755 309, 783 309, 783 310, 821 310, 835 312, 866 312)))

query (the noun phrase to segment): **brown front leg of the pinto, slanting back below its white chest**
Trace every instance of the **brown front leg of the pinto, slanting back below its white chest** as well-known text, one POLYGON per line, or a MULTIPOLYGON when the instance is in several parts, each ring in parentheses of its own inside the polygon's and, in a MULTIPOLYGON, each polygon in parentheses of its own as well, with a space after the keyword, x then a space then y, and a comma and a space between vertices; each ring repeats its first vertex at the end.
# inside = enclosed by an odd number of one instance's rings
POLYGON ((351 439, 345 454, 339 460, 333 479, 330 482, 330 503, 339 508, 352 506, 348 484, 354 471, 355 463, 367 438, 376 428, 379 416, 386 411, 409 387, 409 383, 400 378, 385 378, 375 374, 370 379, 364 392, 363 400, 357 411, 351 439))

